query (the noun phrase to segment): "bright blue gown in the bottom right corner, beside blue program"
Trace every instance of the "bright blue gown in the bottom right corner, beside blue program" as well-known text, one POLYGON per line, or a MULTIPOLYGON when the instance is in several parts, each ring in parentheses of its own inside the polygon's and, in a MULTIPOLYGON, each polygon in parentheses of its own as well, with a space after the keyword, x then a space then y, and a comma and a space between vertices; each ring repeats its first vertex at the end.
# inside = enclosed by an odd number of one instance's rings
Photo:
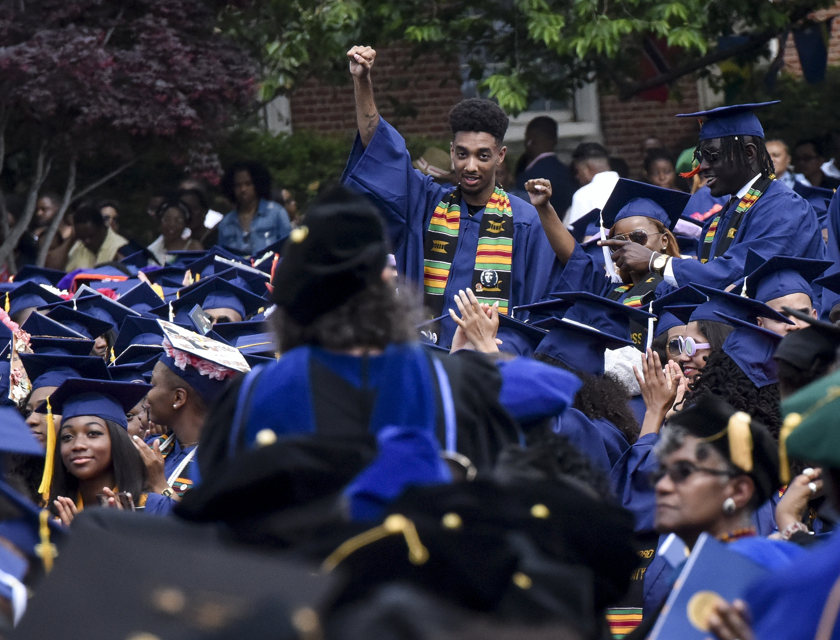
MULTIPOLYGON (((753 632, 759 640, 811 640, 822 609, 840 575, 840 536, 802 553, 790 565, 747 591, 745 600, 753 616, 753 632)), ((840 640, 840 625, 834 625, 833 640, 840 640)))

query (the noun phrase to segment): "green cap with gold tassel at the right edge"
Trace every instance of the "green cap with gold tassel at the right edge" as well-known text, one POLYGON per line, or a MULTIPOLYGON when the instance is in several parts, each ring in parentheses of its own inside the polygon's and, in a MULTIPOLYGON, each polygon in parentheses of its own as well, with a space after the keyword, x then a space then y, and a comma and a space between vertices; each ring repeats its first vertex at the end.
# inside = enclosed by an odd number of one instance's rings
POLYGON ((840 469, 840 371, 802 387, 782 401, 781 409, 782 482, 790 481, 789 459, 840 469))

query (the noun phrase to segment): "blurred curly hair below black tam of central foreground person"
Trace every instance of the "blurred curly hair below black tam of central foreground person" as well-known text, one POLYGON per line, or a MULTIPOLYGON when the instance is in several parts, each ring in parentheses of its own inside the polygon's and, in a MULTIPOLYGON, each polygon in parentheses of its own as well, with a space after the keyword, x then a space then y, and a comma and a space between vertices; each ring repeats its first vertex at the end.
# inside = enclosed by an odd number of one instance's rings
POLYGON ((387 344, 416 340, 417 324, 423 322, 417 302, 384 281, 374 281, 311 324, 295 322, 282 307, 277 307, 269 318, 281 353, 302 344, 334 351, 354 347, 384 349, 387 344))

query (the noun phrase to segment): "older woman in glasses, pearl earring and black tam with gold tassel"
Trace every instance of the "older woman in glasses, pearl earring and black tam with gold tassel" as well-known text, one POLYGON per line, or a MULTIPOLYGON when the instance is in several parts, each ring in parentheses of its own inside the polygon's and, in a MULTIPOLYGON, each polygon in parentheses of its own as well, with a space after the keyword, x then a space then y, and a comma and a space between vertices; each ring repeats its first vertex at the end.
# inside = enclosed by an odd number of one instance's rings
MULTIPOLYGON (((675 533, 691 549, 707 533, 768 569, 803 553, 793 543, 757 535, 753 524, 754 511, 779 489, 778 445, 763 424, 703 396, 669 418, 655 453, 659 467, 649 478, 659 534, 675 533)), ((638 637, 650 631, 681 569, 670 569, 659 556, 649 565, 638 637)))

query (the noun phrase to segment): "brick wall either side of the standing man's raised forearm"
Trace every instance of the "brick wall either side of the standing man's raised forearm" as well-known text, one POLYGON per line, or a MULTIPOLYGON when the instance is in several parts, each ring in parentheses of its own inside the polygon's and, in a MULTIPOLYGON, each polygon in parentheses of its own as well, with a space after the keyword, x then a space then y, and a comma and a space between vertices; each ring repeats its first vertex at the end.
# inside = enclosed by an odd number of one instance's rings
MULTIPOLYGON (((431 55, 413 65, 403 47, 376 51, 372 71, 377 107, 403 135, 449 136, 449 109, 461 99, 457 61, 431 55)), ((352 132, 356 129, 353 83, 334 87, 307 81, 291 95, 294 129, 352 132)))

